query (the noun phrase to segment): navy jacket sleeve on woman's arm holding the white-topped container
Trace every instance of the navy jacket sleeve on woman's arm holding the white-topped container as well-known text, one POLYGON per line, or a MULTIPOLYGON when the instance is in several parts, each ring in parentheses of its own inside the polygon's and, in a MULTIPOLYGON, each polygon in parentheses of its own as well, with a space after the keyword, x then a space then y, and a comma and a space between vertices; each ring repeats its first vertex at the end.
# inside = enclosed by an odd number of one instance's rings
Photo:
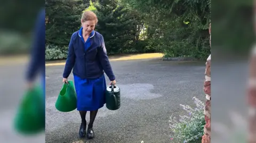
POLYGON ((108 59, 107 49, 105 47, 105 42, 104 42, 103 36, 101 36, 101 38, 100 38, 100 43, 101 43, 101 46, 100 46, 99 51, 98 51, 99 58, 100 58, 100 63, 103 67, 103 70, 108 75, 109 80, 113 81, 116 78, 115 78, 115 75, 113 73, 113 70, 111 68, 111 65, 110 65, 110 62, 109 62, 109 59, 108 59))

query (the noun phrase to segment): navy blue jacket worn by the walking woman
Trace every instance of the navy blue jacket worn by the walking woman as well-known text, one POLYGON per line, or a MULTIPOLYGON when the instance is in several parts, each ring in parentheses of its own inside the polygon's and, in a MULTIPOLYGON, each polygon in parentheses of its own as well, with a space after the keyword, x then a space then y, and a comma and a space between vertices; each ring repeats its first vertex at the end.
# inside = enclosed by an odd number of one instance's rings
POLYGON ((79 30, 71 36, 63 78, 68 78, 73 69, 73 74, 82 79, 99 78, 105 72, 110 81, 115 80, 103 36, 94 31, 86 51, 81 36, 79 30))

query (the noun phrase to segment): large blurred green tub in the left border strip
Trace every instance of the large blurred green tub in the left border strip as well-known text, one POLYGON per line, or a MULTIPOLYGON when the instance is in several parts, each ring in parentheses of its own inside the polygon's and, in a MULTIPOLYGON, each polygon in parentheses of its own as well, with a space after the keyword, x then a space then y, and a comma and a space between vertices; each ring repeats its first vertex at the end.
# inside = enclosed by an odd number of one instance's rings
POLYGON ((20 133, 30 134, 45 129, 45 98, 41 87, 35 86, 25 92, 14 117, 14 128, 20 133))

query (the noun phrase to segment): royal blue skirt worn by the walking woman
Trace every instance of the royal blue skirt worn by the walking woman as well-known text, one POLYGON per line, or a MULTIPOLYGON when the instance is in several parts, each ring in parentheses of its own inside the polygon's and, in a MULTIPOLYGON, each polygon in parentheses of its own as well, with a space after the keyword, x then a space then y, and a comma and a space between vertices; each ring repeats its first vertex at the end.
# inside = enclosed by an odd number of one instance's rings
POLYGON ((95 111, 106 103, 104 74, 96 79, 81 79, 74 74, 78 111, 95 111))

